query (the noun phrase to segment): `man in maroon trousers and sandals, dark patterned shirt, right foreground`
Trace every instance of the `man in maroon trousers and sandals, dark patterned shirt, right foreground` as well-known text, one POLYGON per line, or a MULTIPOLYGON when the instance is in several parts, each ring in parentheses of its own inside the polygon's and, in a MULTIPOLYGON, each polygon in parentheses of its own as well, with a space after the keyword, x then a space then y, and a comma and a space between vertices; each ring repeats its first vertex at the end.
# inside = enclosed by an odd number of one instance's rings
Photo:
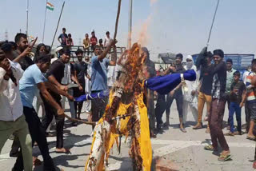
POLYGON ((222 132, 222 116, 225 111, 225 90, 226 90, 226 64, 223 62, 224 52, 214 50, 214 74, 212 86, 212 101, 210 104, 209 125, 212 145, 207 145, 206 150, 218 151, 218 142, 222 147, 222 153, 218 161, 227 161, 230 159, 230 148, 222 132))

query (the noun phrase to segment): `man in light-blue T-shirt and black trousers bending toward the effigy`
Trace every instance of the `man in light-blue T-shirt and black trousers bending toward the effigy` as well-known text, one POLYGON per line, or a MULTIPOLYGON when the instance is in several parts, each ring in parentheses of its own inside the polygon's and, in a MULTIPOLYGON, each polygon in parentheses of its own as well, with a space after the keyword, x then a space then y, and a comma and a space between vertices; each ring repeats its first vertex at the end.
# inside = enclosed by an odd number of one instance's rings
MULTIPOLYGON (((59 117, 64 117, 64 111, 61 105, 54 100, 47 89, 54 91, 55 93, 61 93, 68 96, 66 92, 59 89, 57 86, 46 82, 47 79, 43 75, 50 66, 50 55, 42 55, 38 57, 36 64, 30 66, 23 74, 20 81, 20 93, 22 97, 23 113, 26 117, 26 122, 30 129, 30 135, 32 137, 32 145, 34 141, 38 143, 38 147, 42 153, 44 160, 44 170, 54 171, 54 162, 49 154, 49 149, 47 145, 46 135, 42 127, 42 123, 38 117, 38 113, 33 108, 33 99, 37 91, 40 90, 42 97, 51 104, 51 107, 56 109, 59 117)), ((24 160, 27 160, 24 158, 24 160)), ((14 165, 14 170, 20 170, 22 166, 22 155, 18 155, 17 161, 14 165)))

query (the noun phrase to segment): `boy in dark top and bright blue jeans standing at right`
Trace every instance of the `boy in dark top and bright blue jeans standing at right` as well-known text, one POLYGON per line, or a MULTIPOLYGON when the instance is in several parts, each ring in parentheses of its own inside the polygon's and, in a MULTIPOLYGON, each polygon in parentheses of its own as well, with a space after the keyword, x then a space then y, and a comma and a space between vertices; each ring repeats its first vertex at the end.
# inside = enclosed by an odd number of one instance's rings
POLYGON ((246 85, 239 81, 240 72, 234 72, 234 82, 230 87, 230 114, 229 114, 229 124, 230 124, 230 132, 225 135, 234 136, 234 135, 242 135, 241 129, 241 109, 246 101, 246 85), (236 119, 238 121, 238 129, 234 132, 234 113, 236 114, 236 119))

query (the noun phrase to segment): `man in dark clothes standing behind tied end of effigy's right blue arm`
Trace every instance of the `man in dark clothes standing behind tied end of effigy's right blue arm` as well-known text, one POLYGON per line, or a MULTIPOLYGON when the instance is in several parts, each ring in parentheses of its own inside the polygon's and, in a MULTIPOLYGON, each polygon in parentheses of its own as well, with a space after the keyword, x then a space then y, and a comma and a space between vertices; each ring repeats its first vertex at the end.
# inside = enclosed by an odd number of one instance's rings
MULTIPOLYGON (((178 74, 183 74, 185 73, 185 69, 182 66, 182 59, 183 55, 182 54, 177 54, 176 55, 176 71, 174 73, 178 74)), ((173 89, 170 93, 167 94, 166 97, 166 123, 165 125, 169 125, 169 116, 170 116, 170 107, 171 104, 173 103, 174 99, 176 100, 176 105, 178 109, 178 117, 179 117, 179 122, 180 122, 180 129, 183 133, 186 133, 186 129, 184 129, 183 125, 183 94, 182 94, 182 86, 181 84, 178 85, 175 89, 173 89)))

